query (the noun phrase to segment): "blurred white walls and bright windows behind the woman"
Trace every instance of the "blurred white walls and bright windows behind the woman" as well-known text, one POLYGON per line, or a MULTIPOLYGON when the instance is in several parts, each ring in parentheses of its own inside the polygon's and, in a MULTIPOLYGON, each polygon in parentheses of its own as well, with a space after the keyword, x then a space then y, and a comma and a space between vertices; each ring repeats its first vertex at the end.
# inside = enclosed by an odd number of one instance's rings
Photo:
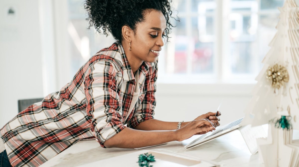
MULTIPOLYGON (((298 1, 296 1, 298 3, 298 1)), ((155 118, 244 116, 284 0, 173 0, 180 22, 159 56, 155 118)), ((84 0, 0 1, 0 126, 18 99, 41 98, 71 81, 111 35, 88 28, 84 0)))

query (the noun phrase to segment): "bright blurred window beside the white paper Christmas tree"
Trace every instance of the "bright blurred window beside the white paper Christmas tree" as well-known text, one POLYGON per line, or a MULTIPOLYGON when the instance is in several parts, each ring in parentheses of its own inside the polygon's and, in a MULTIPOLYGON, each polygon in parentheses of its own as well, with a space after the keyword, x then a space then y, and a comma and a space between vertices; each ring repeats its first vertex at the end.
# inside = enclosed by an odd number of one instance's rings
POLYGON ((263 57, 276 33, 277 7, 283 0, 231 0, 228 8, 227 33, 224 33, 223 79, 252 79, 263 67, 263 57), (226 45, 226 46, 225 46, 226 45))

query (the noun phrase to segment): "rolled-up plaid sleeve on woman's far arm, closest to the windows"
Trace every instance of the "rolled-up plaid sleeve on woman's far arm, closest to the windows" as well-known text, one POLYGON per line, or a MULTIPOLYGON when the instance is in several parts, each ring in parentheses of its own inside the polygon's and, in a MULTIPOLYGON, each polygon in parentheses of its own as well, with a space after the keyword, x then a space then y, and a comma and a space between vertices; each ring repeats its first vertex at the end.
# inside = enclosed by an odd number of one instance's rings
MULTIPOLYGON (((128 127, 135 128, 140 122, 154 118, 156 107, 156 90, 157 90, 157 74, 158 61, 155 63, 152 72, 150 73, 150 80, 147 87, 147 92, 144 99, 136 109, 136 113, 128 123, 128 127)), ((146 82, 146 81, 145 81, 146 82)))

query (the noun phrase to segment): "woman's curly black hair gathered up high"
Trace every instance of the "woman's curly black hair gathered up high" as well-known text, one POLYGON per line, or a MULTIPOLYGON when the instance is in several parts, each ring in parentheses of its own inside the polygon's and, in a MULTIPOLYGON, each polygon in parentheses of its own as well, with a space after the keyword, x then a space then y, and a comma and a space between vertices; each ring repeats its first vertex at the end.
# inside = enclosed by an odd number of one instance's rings
POLYGON ((170 23, 173 17, 170 3, 172 0, 86 0, 84 6, 88 12, 89 29, 94 26, 97 32, 106 36, 109 32, 116 40, 122 41, 121 29, 124 25, 129 26, 134 32, 136 24, 144 21, 144 15, 149 9, 161 11, 166 19, 165 36, 168 38, 170 30, 175 27, 170 23))

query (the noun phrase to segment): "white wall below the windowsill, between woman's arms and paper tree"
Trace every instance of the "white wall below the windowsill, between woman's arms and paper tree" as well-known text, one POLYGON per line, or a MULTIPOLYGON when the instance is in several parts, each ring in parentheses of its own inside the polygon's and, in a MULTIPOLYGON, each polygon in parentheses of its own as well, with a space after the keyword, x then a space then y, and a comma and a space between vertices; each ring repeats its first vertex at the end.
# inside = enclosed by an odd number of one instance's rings
POLYGON ((158 84, 155 118, 164 121, 192 121, 216 112, 222 102, 220 123, 228 124, 245 115, 253 84, 158 84), (222 101, 223 100, 223 101, 222 101))

